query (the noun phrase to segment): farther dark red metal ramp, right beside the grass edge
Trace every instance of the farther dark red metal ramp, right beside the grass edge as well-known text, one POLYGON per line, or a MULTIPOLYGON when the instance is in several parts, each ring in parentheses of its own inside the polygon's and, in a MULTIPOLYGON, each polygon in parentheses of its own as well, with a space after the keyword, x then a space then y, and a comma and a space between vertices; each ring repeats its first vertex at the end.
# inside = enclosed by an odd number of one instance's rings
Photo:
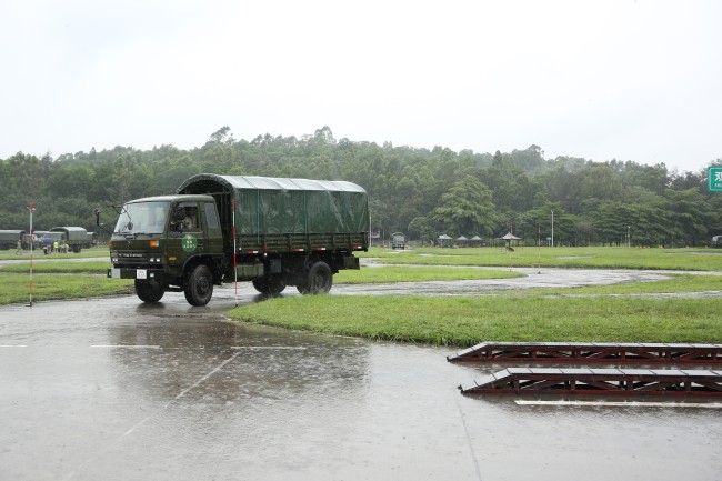
POLYGON ((722 363, 722 344, 482 342, 448 355, 450 362, 722 363))

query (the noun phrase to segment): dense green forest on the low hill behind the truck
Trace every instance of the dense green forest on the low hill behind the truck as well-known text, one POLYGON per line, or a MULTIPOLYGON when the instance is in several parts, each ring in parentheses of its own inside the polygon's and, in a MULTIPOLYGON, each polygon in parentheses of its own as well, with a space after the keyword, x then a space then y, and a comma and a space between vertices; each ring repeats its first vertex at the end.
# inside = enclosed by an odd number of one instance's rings
MULTIPOLYGON (((491 239, 512 231, 528 244, 546 243, 554 212, 559 245, 708 245, 722 233, 722 194, 710 193, 706 169, 670 172, 664 164, 544 159, 538 146, 512 152, 454 152, 313 136, 235 140, 228 127, 192 150, 66 153, 52 159, 18 152, 0 159, 0 229, 80 226, 98 230, 110 206, 172 193, 200 172, 348 180, 369 192, 371 223, 384 239, 401 231, 430 242, 439 234, 491 239), (629 239, 628 239, 629 236, 629 239)), ((722 159, 716 162, 722 163, 722 159)))

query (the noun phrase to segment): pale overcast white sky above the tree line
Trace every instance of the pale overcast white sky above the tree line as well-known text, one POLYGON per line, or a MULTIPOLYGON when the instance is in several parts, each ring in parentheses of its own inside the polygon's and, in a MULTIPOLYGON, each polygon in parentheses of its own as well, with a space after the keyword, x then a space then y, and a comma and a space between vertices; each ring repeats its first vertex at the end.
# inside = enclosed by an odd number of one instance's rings
POLYGON ((722 164, 716 0, 3 0, 0 159, 335 139, 722 164))

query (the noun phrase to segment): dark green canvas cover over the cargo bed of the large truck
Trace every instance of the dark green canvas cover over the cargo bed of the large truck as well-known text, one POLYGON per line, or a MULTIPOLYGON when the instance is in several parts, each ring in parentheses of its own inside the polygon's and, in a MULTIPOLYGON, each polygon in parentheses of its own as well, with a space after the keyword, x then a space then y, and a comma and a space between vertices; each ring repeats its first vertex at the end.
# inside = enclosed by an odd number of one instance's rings
POLYGON ((347 181, 199 173, 178 193, 213 196, 223 223, 232 222, 224 211, 234 200, 241 236, 369 231, 368 194, 347 181))

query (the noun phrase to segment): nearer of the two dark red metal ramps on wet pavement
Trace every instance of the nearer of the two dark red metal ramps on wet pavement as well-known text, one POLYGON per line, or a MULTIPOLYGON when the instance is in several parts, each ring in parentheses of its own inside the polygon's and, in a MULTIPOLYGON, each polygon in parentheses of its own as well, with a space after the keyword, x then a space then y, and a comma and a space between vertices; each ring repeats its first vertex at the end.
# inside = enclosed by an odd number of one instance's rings
POLYGON ((722 397, 722 371, 508 368, 459 389, 463 394, 722 397))

